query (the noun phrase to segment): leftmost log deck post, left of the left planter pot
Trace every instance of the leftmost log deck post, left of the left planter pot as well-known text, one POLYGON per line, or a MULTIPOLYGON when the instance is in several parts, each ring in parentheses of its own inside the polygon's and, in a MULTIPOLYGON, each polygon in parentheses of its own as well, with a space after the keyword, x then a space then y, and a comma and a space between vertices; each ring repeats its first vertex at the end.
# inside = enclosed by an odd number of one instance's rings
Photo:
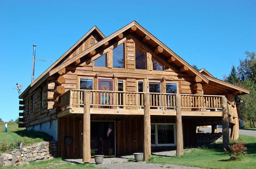
POLYGON ((84 91, 83 162, 91 162, 90 91, 84 91))

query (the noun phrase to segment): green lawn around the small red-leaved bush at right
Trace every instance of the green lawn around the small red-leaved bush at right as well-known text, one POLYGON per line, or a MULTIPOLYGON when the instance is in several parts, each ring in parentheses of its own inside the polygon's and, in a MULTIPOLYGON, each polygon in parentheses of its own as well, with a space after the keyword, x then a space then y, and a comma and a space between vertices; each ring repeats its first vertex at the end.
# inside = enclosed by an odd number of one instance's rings
POLYGON ((240 161, 230 161, 222 144, 213 144, 204 148, 195 148, 182 157, 153 156, 149 163, 176 164, 209 169, 256 169, 256 137, 241 135, 246 142, 248 155, 240 161))

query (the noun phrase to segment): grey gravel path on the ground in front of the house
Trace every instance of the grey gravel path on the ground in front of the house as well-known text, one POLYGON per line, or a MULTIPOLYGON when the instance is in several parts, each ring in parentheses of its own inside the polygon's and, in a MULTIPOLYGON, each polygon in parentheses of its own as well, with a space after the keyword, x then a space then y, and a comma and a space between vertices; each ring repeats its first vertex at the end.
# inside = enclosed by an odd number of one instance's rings
MULTIPOLYGON (((192 149, 185 150, 186 152, 191 151, 192 149)), ((153 152, 154 155, 171 157, 176 155, 176 150, 173 151, 161 151, 161 152, 153 152)), ((91 159, 91 163, 94 164, 95 167, 106 167, 109 169, 163 169, 163 168, 172 168, 172 169, 201 169, 197 167, 187 167, 181 165, 173 165, 173 164, 152 164, 146 162, 134 162, 133 155, 114 157, 114 158, 104 158, 102 164, 95 164, 94 158, 91 159)), ((71 163, 83 163, 82 159, 66 159, 65 161, 69 161, 71 163)))

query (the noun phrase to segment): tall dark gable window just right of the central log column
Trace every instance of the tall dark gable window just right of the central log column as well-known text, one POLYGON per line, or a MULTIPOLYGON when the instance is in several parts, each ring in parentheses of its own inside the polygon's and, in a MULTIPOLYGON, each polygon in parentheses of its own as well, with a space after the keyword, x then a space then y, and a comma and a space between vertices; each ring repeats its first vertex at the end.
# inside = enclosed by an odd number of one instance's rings
POLYGON ((146 52, 135 46, 135 69, 147 69, 146 52))

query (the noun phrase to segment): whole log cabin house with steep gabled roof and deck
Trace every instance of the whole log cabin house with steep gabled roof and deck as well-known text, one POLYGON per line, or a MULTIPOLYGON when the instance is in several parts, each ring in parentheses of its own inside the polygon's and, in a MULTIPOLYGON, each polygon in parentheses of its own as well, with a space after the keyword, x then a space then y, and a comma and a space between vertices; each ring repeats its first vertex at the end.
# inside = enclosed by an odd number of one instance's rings
MULTIPOLYGON (((218 68, 217 68, 218 69, 218 68)), ((196 144, 196 127, 238 139, 235 98, 247 89, 199 72, 137 22, 105 37, 95 26, 20 95, 19 127, 58 141, 58 156, 114 157, 196 144)))

